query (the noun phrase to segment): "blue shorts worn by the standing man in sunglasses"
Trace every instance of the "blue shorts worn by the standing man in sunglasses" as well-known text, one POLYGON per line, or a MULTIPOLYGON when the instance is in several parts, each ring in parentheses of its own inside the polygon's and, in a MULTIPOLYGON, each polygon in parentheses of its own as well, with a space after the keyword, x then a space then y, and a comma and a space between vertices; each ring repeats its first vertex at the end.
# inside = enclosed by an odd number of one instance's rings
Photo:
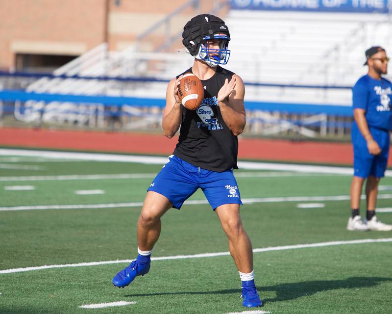
POLYGON ((371 127, 369 127, 369 131, 380 146, 381 154, 374 156, 369 153, 366 140, 356 123, 354 123, 351 131, 351 140, 354 147, 354 176, 364 179, 368 176, 382 178, 388 165, 390 133, 371 127))

